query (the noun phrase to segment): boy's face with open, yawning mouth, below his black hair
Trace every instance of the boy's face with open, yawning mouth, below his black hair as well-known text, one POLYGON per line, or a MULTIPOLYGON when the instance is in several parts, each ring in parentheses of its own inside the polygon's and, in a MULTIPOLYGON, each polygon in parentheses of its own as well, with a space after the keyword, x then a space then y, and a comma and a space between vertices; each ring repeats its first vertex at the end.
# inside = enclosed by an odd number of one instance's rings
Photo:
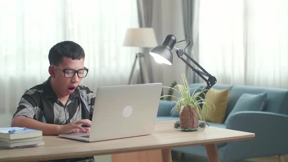
MULTIPOLYGON (((68 57, 63 57, 62 63, 58 65, 58 67, 62 69, 74 69, 79 70, 84 68, 84 59, 80 60, 72 60, 68 57)), ((54 70, 55 72, 55 93, 57 96, 68 96, 74 92, 75 88, 81 83, 83 78, 79 78, 77 73, 73 76, 73 78, 64 77, 64 73, 62 70, 54 70)))

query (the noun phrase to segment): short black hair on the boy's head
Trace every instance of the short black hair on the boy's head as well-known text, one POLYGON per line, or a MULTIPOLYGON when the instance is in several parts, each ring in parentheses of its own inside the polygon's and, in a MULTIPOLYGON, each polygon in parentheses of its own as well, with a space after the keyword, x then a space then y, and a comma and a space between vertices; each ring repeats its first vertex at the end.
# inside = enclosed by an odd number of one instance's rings
POLYGON ((55 44, 49 51, 48 58, 50 65, 58 66, 63 61, 63 57, 80 60, 85 58, 85 53, 79 44, 73 41, 61 41, 55 44))

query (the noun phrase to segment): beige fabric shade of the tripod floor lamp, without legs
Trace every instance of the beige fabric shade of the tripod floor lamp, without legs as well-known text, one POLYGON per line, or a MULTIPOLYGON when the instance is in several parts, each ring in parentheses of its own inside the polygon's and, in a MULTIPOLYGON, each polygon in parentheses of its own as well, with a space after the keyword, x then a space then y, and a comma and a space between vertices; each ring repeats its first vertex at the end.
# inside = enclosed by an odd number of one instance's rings
POLYGON ((153 28, 129 28, 123 43, 123 46, 131 47, 155 47, 157 45, 153 28))

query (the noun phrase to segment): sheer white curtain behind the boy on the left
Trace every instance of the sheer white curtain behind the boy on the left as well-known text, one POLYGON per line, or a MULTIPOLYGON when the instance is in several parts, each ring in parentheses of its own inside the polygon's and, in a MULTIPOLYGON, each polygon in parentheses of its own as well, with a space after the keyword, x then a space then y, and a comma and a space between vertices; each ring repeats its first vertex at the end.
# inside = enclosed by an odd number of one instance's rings
POLYGON ((135 0, 1 0, 0 113, 15 112, 24 91, 49 77, 48 52, 60 41, 83 47, 83 85, 126 84, 140 50, 122 46, 131 27, 138 27, 135 0))

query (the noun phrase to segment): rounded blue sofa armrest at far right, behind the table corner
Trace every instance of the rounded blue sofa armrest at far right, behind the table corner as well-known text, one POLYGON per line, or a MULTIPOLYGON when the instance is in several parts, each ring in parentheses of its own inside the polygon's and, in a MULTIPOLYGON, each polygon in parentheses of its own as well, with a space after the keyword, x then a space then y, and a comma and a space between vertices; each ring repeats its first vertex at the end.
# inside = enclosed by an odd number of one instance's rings
POLYGON ((234 159, 247 159, 283 155, 288 153, 288 115, 262 112, 242 111, 231 114, 226 128, 255 133, 252 140, 228 142, 225 154, 234 154, 234 159))

